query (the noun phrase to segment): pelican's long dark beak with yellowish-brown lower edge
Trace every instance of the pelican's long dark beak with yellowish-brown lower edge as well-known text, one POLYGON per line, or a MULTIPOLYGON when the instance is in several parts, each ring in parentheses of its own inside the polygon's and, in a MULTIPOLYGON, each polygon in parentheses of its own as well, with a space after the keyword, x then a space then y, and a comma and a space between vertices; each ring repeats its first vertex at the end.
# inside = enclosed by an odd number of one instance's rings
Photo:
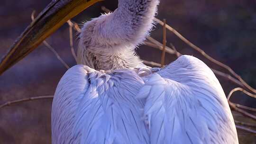
POLYGON ((67 20, 102 0, 52 0, 18 37, 0 62, 0 75, 37 48, 67 20))

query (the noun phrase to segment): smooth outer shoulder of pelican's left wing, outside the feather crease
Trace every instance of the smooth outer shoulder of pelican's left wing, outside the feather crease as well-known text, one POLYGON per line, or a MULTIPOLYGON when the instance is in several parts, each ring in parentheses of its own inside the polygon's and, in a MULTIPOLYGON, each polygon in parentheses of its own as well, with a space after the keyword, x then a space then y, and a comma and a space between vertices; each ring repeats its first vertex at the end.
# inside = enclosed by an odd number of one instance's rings
MULTIPOLYGON (((89 73, 93 71, 88 66, 75 65, 68 69, 59 81, 52 105, 52 141, 54 144, 72 140, 70 130, 75 126, 74 117, 76 117, 84 94, 89 89, 89 73)), ((78 143, 78 140, 74 143, 78 143)))

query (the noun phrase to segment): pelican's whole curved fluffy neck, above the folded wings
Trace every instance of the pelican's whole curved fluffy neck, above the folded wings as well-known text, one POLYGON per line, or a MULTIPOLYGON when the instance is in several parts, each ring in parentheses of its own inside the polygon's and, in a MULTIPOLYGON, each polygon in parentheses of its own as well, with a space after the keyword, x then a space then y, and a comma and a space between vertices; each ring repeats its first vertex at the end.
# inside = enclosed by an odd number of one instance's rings
POLYGON ((135 53, 153 26, 158 0, 119 0, 119 8, 86 22, 80 34, 78 63, 95 70, 140 67, 135 53))

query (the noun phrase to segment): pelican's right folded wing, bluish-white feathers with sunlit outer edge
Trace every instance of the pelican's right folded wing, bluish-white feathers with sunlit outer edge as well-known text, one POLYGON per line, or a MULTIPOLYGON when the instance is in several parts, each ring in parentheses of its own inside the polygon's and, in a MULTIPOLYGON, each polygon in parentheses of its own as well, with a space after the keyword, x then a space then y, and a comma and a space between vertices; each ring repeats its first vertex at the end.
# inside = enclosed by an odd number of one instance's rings
POLYGON ((195 57, 181 56, 154 73, 138 97, 146 99, 151 144, 238 144, 219 81, 195 57))

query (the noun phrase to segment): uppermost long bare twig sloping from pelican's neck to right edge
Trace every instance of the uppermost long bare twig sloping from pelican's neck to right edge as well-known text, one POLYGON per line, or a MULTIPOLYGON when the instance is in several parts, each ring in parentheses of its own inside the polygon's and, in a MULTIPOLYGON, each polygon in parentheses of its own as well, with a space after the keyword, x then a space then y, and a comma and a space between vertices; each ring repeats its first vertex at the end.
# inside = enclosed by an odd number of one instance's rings
MULTIPOLYGON (((157 18, 154 19, 157 23, 164 26, 165 23, 157 18)), ((210 57, 210 55, 206 54, 201 48, 198 46, 192 44, 188 39, 186 39, 184 36, 182 36, 179 32, 177 32, 173 27, 170 27, 169 25, 165 25, 167 29, 169 29, 171 32, 173 32, 176 36, 178 36, 183 42, 185 42, 187 45, 191 46, 193 49, 201 53, 205 58, 210 60, 213 63, 218 64, 219 66, 227 69, 233 76, 235 76, 247 89, 251 90, 252 92, 256 93, 256 90, 249 86, 236 72, 234 72, 228 65, 221 63, 214 58, 210 57)))

